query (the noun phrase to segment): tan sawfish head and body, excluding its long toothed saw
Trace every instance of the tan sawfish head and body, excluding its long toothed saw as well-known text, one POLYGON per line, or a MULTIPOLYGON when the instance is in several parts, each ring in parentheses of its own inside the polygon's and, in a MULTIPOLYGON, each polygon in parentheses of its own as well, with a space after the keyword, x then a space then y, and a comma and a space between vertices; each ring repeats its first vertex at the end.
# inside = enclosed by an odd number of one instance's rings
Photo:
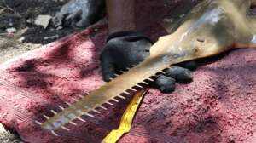
POLYGON ((161 26, 170 35, 160 37, 150 49, 150 57, 167 55, 167 59, 181 62, 251 47, 255 27, 247 19, 251 4, 241 0, 206 0, 180 20, 164 20, 161 26))

